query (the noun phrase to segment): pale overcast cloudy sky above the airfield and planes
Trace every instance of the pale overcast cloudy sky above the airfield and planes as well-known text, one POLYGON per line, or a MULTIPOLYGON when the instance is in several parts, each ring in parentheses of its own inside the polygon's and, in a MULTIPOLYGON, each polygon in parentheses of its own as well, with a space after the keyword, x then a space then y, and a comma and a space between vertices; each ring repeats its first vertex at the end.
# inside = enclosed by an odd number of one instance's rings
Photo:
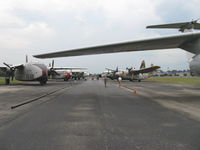
MULTIPOLYGON (((199 0, 1 0, 0 66, 29 60, 48 64, 33 54, 125 42, 170 34, 177 30, 147 30, 150 24, 198 19, 199 0)), ((160 65, 163 70, 188 69, 180 49, 56 58, 55 66, 105 67, 160 65)))

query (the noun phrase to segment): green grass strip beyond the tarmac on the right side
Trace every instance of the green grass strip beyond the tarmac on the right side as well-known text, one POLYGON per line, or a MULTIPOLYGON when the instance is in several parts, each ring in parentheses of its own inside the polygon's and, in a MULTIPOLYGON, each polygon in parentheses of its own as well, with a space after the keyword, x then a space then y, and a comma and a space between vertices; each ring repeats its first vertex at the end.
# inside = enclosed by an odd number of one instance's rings
POLYGON ((200 77, 151 77, 148 81, 200 85, 200 77))

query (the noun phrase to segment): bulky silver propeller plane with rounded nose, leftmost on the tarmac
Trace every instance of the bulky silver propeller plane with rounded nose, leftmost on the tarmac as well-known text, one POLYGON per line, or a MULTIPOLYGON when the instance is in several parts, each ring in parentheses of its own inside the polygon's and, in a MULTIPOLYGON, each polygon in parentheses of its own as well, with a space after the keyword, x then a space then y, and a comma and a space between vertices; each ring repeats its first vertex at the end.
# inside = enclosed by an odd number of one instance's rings
POLYGON ((0 67, 0 76, 5 77, 6 84, 10 83, 10 78, 19 81, 39 81, 41 85, 48 80, 48 69, 42 63, 28 63, 26 57, 25 64, 9 65, 3 63, 5 67, 0 67))

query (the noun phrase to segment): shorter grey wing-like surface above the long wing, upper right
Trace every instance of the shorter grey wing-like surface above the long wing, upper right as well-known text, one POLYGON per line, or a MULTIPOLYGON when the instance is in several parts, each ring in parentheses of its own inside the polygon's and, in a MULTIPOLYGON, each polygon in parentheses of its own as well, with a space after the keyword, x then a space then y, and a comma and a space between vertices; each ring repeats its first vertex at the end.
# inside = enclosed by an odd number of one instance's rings
POLYGON ((170 24, 150 25, 146 28, 171 28, 179 29, 180 32, 191 31, 192 29, 200 29, 200 23, 198 20, 192 20, 191 22, 179 22, 170 24))

